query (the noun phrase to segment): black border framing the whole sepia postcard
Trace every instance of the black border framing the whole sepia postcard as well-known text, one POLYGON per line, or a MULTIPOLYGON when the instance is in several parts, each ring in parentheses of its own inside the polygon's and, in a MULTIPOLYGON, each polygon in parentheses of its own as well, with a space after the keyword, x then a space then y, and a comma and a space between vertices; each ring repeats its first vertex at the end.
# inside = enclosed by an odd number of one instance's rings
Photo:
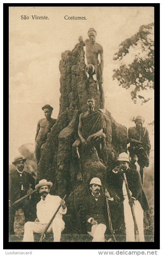
MULTIPOLYGON (((75 7, 75 6, 78 6, 78 7, 82 7, 82 6, 104 6, 104 7, 111 7, 111 6, 124 6, 124 7, 128 7, 128 6, 135 6, 135 7, 143 7, 143 6, 153 6, 154 7, 154 14, 155 14, 155 44, 156 44, 156 47, 155 47, 155 80, 156 80, 156 83, 160 84, 160 72, 159 72, 159 67, 160 65, 158 63, 160 63, 160 4, 82 4, 82 5, 77 5, 77 4, 4 4, 3 3, 3 45, 6 46, 6 51, 5 51, 5 57, 3 59, 3 63, 4 63, 4 71, 3 71, 3 74, 4 74, 4 78, 6 78, 6 76, 8 76, 8 42, 9 42, 9 37, 8 37, 8 33, 6 33, 6 31, 8 32, 9 30, 9 26, 8 26, 8 18, 9 18, 9 10, 8 8, 10 6, 47 6, 47 7, 51 7, 51 6, 56 6, 56 7, 59 7, 59 6, 71 6, 71 7, 75 7), (6 29, 8 27, 8 29, 6 29), (6 34, 5 34, 6 33, 6 34)), ((6 87, 6 82, 4 81, 4 85, 6 87)), ((160 96, 159 94, 159 91, 157 89, 155 93, 155 97, 156 97, 156 102, 157 104, 159 104, 159 101, 158 101, 158 98, 160 96), (156 95, 157 93, 157 95, 156 95)), ((6 102, 6 101, 5 101, 6 102)), ((6 104, 5 104, 6 105, 6 104)), ((6 106, 5 106, 6 108, 6 106)), ((160 111, 159 111, 159 107, 156 107, 156 104, 155 104, 155 114, 157 113, 159 116, 160 116, 160 111)), ((156 119, 156 118, 155 118, 156 119)), ((159 118, 158 118, 159 120, 159 118)), ((156 122, 155 122, 156 123, 156 122)), ((157 147, 155 147, 156 149, 160 148, 160 137, 159 137, 159 127, 160 127, 160 122, 157 121, 156 123, 156 129, 157 129, 157 134, 155 134, 155 143, 156 143, 156 140, 157 140, 157 147)), ((5 124, 4 126, 6 125, 6 121, 5 121, 5 124)), ((4 127, 5 128, 5 127, 4 127)), ((4 129, 6 130, 6 128, 4 129)), ((8 150, 8 148, 7 148, 8 150)), ((6 149, 5 149, 6 151, 6 149)), ((160 151, 157 150, 155 156, 158 156, 160 155, 159 154, 160 151)), ((5 157, 4 157, 4 160, 5 157)), ((5 161, 4 161, 5 162, 5 161)), ((3 249, 19 249, 19 250, 24 250, 24 249, 28 249, 29 248, 31 250, 37 250, 37 249, 88 249, 88 250, 91 250, 91 249, 99 249, 99 248, 102 248, 102 249, 107 249, 107 250, 110 250, 110 249, 119 249, 119 250, 137 250, 138 248, 139 249, 143 249, 143 250, 155 250, 155 249, 160 249, 160 205, 159 205, 159 202, 160 202, 160 193, 158 193, 158 191, 160 191, 160 177, 158 176, 158 170, 160 170, 160 164, 159 164, 159 161, 158 161, 158 158, 157 158, 157 161, 155 161, 155 169, 157 170, 157 173, 155 174, 155 184, 157 184, 157 188, 155 186, 155 198, 157 198, 157 202, 156 202, 156 199, 155 199, 155 233, 154 233, 154 242, 130 242, 130 243, 126 243, 126 242, 118 242, 118 243, 109 243, 109 244, 106 244, 106 243, 101 243, 101 242, 98 242, 98 243, 93 243, 93 245, 90 244, 90 242, 73 242, 73 244, 71 244, 71 242, 63 242, 64 243, 64 248, 62 248, 62 242, 56 242, 55 245, 51 242, 47 242, 46 243, 46 247, 45 245, 42 245, 39 243, 38 245, 36 244, 36 242, 34 243, 31 243, 31 242, 28 242, 28 243, 22 243, 22 242, 8 242, 8 229, 6 228, 6 225, 5 223, 8 223, 8 214, 6 214, 6 210, 7 209, 7 212, 8 212, 8 200, 6 199, 6 195, 8 194, 8 187, 6 186, 6 180, 8 181, 8 172, 6 170, 4 170, 3 174, 4 174, 4 178, 3 178, 3 184, 4 184, 4 188, 6 188, 6 190, 3 189, 3 249), (120 249, 122 248, 122 249, 120 249)), ((90 252, 88 252, 90 253, 90 252)))

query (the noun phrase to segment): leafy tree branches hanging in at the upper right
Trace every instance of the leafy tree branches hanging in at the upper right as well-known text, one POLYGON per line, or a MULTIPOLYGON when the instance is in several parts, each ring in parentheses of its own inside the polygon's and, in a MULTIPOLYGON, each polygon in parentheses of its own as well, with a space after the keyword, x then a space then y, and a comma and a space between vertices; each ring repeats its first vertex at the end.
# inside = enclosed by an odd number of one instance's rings
MULTIPOLYGON (((154 89, 154 23, 143 25, 131 38, 121 42, 119 52, 113 60, 118 61, 119 68, 114 69, 113 80, 117 79, 119 86, 128 89, 131 85, 134 90, 131 98, 136 103, 137 96, 142 104, 150 100, 139 95, 140 90, 154 89), (132 63, 127 58, 134 53, 132 63), (125 63, 127 61, 128 63, 125 63)), ((131 56, 132 58, 132 56, 131 56)))

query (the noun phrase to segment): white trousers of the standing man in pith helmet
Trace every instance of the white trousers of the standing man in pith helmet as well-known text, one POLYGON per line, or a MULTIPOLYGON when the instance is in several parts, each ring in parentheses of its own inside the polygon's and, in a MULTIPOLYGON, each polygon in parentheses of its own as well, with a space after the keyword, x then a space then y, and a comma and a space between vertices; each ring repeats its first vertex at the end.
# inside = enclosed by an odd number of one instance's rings
MULTIPOLYGON (((128 201, 128 196, 124 196, 123 201, 124 216, 125 216, 125 227, 126 227, 126 242, 135 242, 135 232, 134 232, 134 221, 131 212, 131 208, 128 201)), ((135 213, 135 219, 137 223, 137 228, 139 231, 140 242, 144 242, 144 228, 143 228, 143 209, 138 200, 134 201, 133 209, 135 213)))

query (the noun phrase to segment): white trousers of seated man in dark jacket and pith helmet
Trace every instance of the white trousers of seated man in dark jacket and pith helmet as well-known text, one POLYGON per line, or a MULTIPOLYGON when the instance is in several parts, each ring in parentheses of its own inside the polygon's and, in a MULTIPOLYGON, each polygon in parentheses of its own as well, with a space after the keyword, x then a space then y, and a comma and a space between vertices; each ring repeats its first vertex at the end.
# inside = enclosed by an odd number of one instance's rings
POLYGON ((92 225, 91 232, 87 232, 91 236, 93 236, 92 242, 105 242, 105 231, 106 225, 105 224, 95 224, 92 225))

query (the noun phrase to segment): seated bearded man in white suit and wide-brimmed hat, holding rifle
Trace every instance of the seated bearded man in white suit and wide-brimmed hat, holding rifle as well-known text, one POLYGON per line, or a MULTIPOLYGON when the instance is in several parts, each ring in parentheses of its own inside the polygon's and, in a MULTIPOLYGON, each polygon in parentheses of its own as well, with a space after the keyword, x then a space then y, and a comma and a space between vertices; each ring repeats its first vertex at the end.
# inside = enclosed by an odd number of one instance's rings
POLYGON ((60 242, 61 233, 65 228, 62 214, 66 214, 67 208, 65 206, 65 201, 62 200, 61 197, 49 194, 51 187, 52 182, 48 182, 47 180, 41 180, 35 186, 35 188, 39 190, 41 201, 37 203, 37 219, 35 222, 27 222, 24 225, 23 242, 34 242, 33 233, 42 233, 59 205, 61 205, 62 207, 59 209, 47 230, 48 233, 53 231, 54 242, 60 242))

